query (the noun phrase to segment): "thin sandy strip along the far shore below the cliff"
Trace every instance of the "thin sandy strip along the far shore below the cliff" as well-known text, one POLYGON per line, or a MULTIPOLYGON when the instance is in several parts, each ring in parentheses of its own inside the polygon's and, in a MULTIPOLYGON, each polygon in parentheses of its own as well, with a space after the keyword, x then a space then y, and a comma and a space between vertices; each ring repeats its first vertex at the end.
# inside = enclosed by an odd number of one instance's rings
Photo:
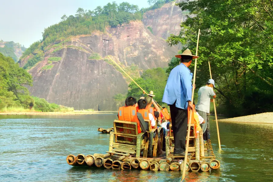
POLYGON ((10 112, 0 115, 90 115, 90 114, 114 114, 117 111, 69 111, 69 112, 10 112))

